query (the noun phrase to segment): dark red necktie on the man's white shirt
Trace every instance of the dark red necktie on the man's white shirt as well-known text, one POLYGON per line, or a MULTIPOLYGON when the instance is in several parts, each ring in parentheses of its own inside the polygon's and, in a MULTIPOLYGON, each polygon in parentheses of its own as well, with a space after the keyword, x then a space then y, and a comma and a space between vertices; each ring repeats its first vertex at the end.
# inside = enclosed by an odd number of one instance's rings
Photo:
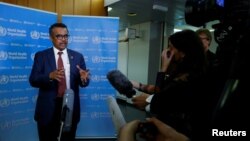
MULTIPOLYGON (((63 54, 63 52, 58 52, 58 60, 57 60, 57 69, 61 70, 63 69, 64 70, 64 66, 63 66, 63 60, 62 60, 62 57, 61 55, 63 54)), ((64 78, 61 79, 60 82, 58 82, 58 97, 62 97, 65 90, 66 90, 66 80, 65 80, 65 76, 64 78)))

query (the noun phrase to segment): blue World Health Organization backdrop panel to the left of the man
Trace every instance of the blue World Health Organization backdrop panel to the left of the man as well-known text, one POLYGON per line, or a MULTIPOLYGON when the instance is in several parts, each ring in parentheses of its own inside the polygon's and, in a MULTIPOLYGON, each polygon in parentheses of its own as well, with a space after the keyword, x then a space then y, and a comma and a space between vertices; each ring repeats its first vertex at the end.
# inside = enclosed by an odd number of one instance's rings
POLYGON ((51 46, 56 20, 55 13, 0 3, 0 141, 38 140, 37 90, 28 78, 34 53, 51 46))

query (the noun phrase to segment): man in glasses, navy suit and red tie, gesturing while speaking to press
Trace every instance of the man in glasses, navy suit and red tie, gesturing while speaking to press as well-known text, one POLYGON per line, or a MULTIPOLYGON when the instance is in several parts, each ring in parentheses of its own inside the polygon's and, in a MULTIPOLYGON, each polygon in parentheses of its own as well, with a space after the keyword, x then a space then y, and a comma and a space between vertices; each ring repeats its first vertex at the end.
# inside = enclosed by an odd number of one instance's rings
POLYGON ((49 35, 53 47, 35 54, 29 78, 31 86, 39 88, 34 118, 37 121, 40 141, 57 141, 63 94, 66 89, 72 89, 72 126, 70 131, 62 132, 60 138, 73 141, 80 120, 79 86, 86 87, 89 84, 89 72, 86 70, 83 55, 67 48, 69 33, 65 24, 51 25, 49 35))

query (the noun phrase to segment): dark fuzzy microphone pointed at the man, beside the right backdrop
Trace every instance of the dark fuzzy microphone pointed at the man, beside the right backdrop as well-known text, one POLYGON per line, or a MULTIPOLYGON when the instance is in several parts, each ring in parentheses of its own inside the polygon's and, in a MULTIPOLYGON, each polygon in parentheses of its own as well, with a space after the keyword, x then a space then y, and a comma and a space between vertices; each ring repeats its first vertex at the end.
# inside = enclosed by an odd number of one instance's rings
POLYGON ((132 83, 119 70, 112 70, 108 72, 107 79, 120 94, 124 94, 128 98, 131 98, 136 94, 132 83))

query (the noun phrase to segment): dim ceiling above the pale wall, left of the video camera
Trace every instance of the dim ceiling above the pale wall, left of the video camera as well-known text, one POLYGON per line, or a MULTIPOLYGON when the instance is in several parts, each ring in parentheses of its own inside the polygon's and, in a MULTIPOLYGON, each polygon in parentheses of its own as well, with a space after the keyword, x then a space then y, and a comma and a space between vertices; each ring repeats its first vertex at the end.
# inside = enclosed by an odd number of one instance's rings
POLYGON ((120 30, 143 22, 166 22, 170 25, 185 25, 186 0, 110 0, 110 17, 120 18, 120 30), (128 16, 136 13, 136 16, 128 16))

